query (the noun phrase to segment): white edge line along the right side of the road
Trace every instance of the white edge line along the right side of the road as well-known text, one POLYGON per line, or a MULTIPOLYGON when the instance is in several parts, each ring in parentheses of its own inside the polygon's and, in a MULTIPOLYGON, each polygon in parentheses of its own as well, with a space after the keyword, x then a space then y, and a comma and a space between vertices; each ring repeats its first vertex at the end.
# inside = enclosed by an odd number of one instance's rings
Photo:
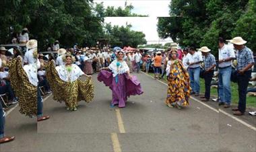
MULTIPOLYGON (((141 73, 144 73, 144 72, 142 72, 141 71, 141 73)), ((145 75, 148 75, 147 73, 144 73, 145 75)), ((152 77, 151 75, 148 75, 149 77, 152 77)), ((154 79, 154 77, 152 77, 153 79, 154 79)), ((167 85, 168 86, 168 84, 166 84, 166 83, 164 83, 164 82, 162 82, 162 81, 160 81, 160 80, 158 80, 160 83, 163 83, 164 85, 167 85)), ((241 124, 244 124, 245 126, 247 126, 247 127, 249 127, 249 128, 251 128, 251 129, 253 129, 253 130, 255 130, 256 131, 256 127, 255 126, 252 126, 251 124, 248 124, 247 122, 245 122, 245 121, 243 121, 243 120, 241 120, 241 119, 239 119, 239 118, 236 118, 235 116, 232 116, 231 114, 228 114, 227 112, 224 112, 223 110, 221 110, 221 109, 219 109, 219 110, 216 110, 215 108, 212 108, 212 106, 209 106, 209 105, 207 105, 207 104, 205 104, 205 103, 203 103, 203 102, 201 102, 200 100, 197 100, 196 98, 193 98, 193 97, 191 97, 193 100, 195 100, 196 102, 199 102, 200 104, 203 104, 203 106, 206 106, 207 108, 210 108, 211 110, 214 110, 215 112, 217 112, 217 113, 219 113, 219 112, 221 112, 222 114, 225 114, 226 116, 228 116, 228 117, 230 117, 230 118, 232 118, 232 119, 234 119, 234 120, 236 120, 236 121, 238 121, 238 122, 240 122, 241 124)))

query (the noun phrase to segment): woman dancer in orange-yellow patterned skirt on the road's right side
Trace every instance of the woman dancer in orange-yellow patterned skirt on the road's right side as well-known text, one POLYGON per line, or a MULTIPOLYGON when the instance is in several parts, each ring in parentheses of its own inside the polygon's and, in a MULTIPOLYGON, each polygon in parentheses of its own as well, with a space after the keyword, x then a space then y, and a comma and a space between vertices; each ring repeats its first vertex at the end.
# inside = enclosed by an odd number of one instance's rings
POLYGON ((166 105, 181 108, 189 105, 189 73, 184 69, 182 61, 177 59, 177 50, 172 49, 168 55, 169 61, 166 65, 168 79, 168 91, 166 105))

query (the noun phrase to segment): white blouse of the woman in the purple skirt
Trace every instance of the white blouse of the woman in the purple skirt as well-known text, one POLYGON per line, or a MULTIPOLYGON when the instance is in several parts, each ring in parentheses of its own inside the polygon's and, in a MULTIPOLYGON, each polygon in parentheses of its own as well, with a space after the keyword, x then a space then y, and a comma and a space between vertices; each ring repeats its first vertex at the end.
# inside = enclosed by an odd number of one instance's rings
POLYGON ((129 71, 129 67, 125 61, 119 62, 120 66, 117 67, 117 60, 114 60, 110 65, 108 66, 108 69, 110 69, 113 73, 113 77, 117 76, 118 74, 123 74, 129 71))

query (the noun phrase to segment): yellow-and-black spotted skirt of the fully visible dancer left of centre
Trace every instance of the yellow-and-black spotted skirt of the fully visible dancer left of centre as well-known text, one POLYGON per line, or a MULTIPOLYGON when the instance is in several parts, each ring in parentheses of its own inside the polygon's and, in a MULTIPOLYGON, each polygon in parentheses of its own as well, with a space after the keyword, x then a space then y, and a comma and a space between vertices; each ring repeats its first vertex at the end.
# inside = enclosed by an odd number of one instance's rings
POLYGON ((69 108, 77 107, 81 100, 92 102, 94 98, 94 84, 92 78, 82 81, 77 79, 73 82, 63 81, 56 69, 53 61, 46 65, 46 79, 53 91, 53 100, 65 102, 69 108))

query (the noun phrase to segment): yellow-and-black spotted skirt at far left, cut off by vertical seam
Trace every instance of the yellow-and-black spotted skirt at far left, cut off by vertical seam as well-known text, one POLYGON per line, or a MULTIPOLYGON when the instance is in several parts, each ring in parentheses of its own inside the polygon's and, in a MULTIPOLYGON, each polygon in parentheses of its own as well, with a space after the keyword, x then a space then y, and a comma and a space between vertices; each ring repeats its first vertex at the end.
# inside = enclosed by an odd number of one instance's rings
POLYGON ((30 117, 36 116, 37 87, 28 81, 28 75, 22 68, 20 58, 11 60, 8 66, 11 88, 15 92, 15 96, 19 98, 20 113, 30 117))

